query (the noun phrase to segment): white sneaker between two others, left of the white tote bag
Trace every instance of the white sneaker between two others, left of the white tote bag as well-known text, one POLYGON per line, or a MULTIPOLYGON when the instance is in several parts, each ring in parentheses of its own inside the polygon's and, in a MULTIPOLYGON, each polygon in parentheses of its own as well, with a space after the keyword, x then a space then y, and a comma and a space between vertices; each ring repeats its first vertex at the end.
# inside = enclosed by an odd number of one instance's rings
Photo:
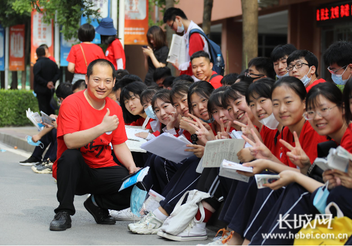
POLYGON ((150 212, 147 216, 144 216, 139 222, 128 225, 128 229, 133 233, 137 234, 156 234, 164 221, 158 220, 154 213, 150 212))

